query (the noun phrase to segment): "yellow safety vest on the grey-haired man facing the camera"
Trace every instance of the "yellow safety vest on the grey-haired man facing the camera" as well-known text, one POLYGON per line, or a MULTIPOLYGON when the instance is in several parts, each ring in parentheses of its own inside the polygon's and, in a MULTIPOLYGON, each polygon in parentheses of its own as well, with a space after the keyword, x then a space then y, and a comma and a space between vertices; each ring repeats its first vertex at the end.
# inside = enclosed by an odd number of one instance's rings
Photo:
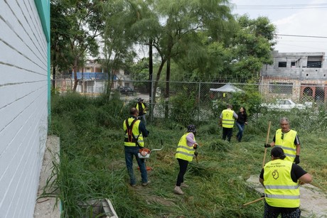
POLYGON ((286 158, 284 160, 289 160, 292 163, 296 156, 296 145, 294 145, 294 140, 296 137, 296 131, 290 130, 284 133, 282 137, 282 129, 277 129, 275 137, 275 146, 283 148, 286 158), (283 139, 282 139, 283 138, 283 139))

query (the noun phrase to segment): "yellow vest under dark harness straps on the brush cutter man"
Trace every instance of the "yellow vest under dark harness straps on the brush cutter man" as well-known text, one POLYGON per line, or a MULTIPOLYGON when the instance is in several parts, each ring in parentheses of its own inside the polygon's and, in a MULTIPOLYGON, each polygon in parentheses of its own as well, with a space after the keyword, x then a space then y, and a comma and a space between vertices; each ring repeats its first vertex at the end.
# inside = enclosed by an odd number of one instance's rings
POLYGON ((127 131, 126 120, 124 120, 124 131, 125 131, 124 145, 125 146, 137 146, 137 144, 136 144, 136 141, 137 141, 139 146, 144 147, 143 134, 141 132, 139 132, 139 124, 141 121, 131 117, 131 118, 127 119, 127 122, 129 124, 129 126, 132 127, 132 136, 134 136, 134 137, 129 137, 129 134, 127 131), (136 121, 134 122, 133 126, 131 126, 131 124, 134 120, 136 120, 136 121))

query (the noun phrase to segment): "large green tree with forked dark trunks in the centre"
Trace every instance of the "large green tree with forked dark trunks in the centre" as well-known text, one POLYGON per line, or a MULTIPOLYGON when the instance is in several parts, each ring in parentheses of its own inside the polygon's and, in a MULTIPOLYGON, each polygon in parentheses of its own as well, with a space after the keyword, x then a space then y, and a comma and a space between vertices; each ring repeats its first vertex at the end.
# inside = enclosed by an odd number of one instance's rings
MULTIPOLYGON (((150 8, 154 10, 155 14, 158 14, 159 20, 150 20, 154 21, 154 25, 151 25, 154 26, 154 28, 150 28, 146 37, 151 39, 160 57, 154 90, 156 90, 158 86, 161 71, 166 64, 166 116, 168 114, 171 61, 173 58, 188 55, 188 53, 191 52, 193 52, 193 54, 196 53, 195 50, 199 46, 195 46, 195 42, 200 42, 197 34, 199 31, 208 31, 208 29, 210 29, 211 32, 218 33, 225 24, 227 25, 230 20, 233 20, 227 3, 228 1, 225 0, 166 0, 155 1, 154 4, 151 5, 150 8), (154 29, 156 31, 154 31, 154 29)), ((156 16, 152 17, 156 18, 156 16)), ((198 55, 201 54, 203 54, 203 52, 198 53, 198 55)))

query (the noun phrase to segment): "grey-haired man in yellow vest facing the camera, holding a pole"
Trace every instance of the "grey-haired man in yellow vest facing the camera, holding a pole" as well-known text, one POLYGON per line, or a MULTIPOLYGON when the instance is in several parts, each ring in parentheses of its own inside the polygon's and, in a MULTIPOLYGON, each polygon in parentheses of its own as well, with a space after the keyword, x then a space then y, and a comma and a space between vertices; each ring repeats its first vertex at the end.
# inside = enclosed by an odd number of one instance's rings
POLYGON ((277 129, 272 143, 265 143, 264 148, 270 148, 278 146, 283 148, 285 152, 285 160, 289 160, 292 163, 300 163, 300 141, 297 132, 289 127, 289 119, 283 117, 279 120, 281 129, 277 129))

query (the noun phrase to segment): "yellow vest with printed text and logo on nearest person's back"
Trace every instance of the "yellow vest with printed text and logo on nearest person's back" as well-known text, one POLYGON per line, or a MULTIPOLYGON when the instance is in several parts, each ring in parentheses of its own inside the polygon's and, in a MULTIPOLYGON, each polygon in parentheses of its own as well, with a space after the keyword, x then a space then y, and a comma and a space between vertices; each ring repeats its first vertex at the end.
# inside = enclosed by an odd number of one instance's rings
POLYGON ((288 160, 272 160, 264 165, 264 196, 272 207, 300 207, 299 183, 291 179, 288 160))

